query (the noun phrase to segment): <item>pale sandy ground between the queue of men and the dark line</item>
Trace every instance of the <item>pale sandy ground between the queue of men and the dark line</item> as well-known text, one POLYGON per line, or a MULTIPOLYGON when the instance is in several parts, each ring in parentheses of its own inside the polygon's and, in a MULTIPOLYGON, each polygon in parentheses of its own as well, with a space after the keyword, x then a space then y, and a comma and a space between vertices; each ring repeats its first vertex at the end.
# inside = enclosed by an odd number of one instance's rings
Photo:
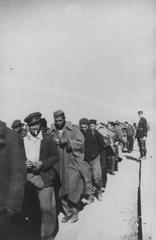
POLYGON ((136 240, 139 162, 134 151, 119 163, 119 172, 108 175, 103 200, 80 212, 76 223, 61 223, 56 240, 136 240))

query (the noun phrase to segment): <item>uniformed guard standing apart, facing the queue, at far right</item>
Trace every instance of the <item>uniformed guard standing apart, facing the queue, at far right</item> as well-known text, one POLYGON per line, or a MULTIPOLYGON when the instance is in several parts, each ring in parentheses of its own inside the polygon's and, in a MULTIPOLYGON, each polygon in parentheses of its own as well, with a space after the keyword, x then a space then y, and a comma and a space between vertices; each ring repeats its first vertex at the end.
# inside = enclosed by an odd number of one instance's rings
POLYGON ((143 117, 143 111, 138 111, 139 122, 136 130, 136 139, 138 141, 140 157, 139 159, 146 159, 146 138, 148 131, 147 120, 143 117))

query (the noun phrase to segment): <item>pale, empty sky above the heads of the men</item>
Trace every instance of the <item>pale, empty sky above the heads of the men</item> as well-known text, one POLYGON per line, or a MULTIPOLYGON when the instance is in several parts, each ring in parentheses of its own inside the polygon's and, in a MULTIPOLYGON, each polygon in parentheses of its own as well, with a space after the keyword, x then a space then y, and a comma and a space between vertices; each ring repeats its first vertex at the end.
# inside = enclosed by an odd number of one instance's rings
POLYGON ((0 119, 133 120, 155 106, 153 0, 1 0, 0 119))

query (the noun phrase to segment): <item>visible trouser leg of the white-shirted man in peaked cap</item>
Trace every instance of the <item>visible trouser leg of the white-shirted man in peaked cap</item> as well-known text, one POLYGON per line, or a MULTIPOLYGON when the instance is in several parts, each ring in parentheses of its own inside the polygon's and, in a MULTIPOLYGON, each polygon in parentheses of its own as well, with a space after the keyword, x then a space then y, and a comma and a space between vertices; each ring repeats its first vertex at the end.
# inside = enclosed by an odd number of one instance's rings
POLYGON ((41 239, 52 240, 58 231, 54 188, 44 187, 39 190, 41 209, 41 239))

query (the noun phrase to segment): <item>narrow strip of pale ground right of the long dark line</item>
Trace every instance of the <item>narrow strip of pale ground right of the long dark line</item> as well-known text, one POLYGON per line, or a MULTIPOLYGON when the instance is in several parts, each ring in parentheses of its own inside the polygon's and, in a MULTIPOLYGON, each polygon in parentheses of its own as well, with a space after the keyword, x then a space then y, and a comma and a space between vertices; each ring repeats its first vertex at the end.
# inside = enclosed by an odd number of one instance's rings
POLYGON ((148 158, 141 168, 142 232, 143 240, 156 240, 156 138, 149 135, 147 140, 148 158))

